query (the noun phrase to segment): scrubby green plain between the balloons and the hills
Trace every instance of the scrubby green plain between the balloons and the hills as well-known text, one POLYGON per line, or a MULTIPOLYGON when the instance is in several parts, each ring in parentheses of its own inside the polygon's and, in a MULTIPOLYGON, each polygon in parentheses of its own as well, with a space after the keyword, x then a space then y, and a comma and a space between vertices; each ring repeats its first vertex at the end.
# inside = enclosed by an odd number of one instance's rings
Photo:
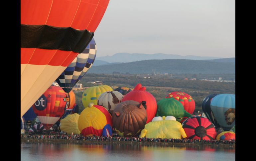
MULTIPOLYGON (((134 88, 138 83, 145 86, 146 91, 150 92, 158 102, 165 98, 170 92, 182 91, 192 96, 195 101, 195 111, 202 111, 201 104, 204 97, 210 94, 230 93, 235 94, 235 83, 223 82, 208 82, 200 80, 182 80, 182 79, 169 79, 166 77, 153 77, 150 79, 132 75, 132 76, 117 76, 117 75, 97 75, 88 74, 83 77, 79 83, 83 87, 91 86, 87 84, 88 81, 102 81, 103 84, 111 86, 116 89, 120 86, 134 88)), ((82 105, 83 91, 75 91, 76 104, 80 107, 80 112, 83 110, 82 105)))

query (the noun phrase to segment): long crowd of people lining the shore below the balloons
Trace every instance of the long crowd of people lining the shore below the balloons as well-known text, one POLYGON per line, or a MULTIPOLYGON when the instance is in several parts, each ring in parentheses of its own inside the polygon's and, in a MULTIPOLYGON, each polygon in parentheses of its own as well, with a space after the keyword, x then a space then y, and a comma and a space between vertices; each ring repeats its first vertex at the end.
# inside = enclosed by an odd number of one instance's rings
POLYGON ((132 141, 132 142, 170 142, 170 143, 202 143, 202 144, 235 144, 235 140, 200 140, 200 139, 163 139, 163 138, 140 138, 140 137, 104 137, 104 136, 82 136, 82 135, 67 135, 67 134, 56 134, 56 135, 21 135, 21 139, 62 139, 62 140, 90 140, 90 141, 132 141))

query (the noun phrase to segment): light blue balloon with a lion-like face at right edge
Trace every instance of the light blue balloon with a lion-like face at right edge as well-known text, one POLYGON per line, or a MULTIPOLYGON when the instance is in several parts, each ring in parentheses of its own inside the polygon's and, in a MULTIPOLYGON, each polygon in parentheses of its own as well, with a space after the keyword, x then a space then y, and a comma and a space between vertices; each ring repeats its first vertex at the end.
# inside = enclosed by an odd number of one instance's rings
POLYGON ((235 95, 219 94, 213 97, 211 111, 224 131, 229 131, 235 125, 235 95))

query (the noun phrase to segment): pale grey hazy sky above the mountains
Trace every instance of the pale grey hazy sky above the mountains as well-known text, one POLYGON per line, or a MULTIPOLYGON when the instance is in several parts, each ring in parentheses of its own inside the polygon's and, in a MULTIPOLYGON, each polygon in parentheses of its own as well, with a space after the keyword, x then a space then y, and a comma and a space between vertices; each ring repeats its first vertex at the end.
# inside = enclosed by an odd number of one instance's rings
POLYGON ((235 57, 235 0, 110 0, 94 39, 97 57, 235 57))

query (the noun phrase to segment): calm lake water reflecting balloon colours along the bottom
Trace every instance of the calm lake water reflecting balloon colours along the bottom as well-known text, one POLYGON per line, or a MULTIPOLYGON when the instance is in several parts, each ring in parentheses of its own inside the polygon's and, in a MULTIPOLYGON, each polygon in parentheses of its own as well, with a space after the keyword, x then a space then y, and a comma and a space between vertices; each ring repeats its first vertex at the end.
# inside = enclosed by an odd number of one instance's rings
POLYGON ((141 145, 21 141, 21 161, 228 161, 235 148, 213 145, 141 145))

